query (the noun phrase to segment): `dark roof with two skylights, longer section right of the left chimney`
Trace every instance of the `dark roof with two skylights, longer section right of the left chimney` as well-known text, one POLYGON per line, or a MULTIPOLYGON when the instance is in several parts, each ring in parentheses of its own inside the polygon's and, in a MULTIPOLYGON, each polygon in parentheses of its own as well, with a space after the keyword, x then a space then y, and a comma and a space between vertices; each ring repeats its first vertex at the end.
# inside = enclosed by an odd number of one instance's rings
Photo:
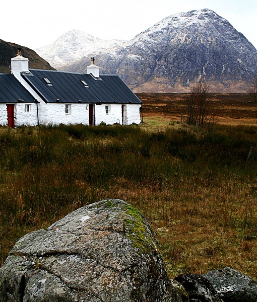
POLYGON ((45 102, 60 103, 119 103, 141 104, 140 99, 125 85, 118 75, 100 75, 55 70, 30 69, 22 73, 29 85, 45 102), (47 85, 44 78, 51 85, 47 85), (81 82, 85 81, 88 87, 81 82))

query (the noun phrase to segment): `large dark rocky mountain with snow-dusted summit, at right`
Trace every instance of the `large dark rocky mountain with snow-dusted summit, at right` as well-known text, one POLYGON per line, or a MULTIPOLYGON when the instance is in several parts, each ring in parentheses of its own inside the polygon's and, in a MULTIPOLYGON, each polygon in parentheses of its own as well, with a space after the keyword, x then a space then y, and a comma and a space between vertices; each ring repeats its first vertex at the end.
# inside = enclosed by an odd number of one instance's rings
MULTIPOLYGON (((85 72, 91 55, 61 69, 85 72)), ((119 74, 134 92, 187 92, 200 77, 213 92, 245 92, 257 73, 254 46, 208 9, 167 17, 95 57, 102 73, 119 74)))

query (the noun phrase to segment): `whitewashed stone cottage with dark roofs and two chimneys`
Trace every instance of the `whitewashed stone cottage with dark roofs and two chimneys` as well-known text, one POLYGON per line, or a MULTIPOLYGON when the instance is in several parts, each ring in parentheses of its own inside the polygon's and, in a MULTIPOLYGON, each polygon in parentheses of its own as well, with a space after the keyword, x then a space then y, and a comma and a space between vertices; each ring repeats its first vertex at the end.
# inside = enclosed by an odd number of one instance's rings
POLYGON ((0 124, 139 124, 142 102, 118 75, 99 74, 91 58, 87 73, 29 69, 21 49, 12 74, 0 74, 0 124))

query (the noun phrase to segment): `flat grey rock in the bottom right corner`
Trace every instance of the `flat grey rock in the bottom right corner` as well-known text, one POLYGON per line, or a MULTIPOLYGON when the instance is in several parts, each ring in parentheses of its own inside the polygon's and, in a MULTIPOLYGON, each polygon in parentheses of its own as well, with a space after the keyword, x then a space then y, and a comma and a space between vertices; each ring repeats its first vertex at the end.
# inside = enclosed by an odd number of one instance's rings
POLYGON ((225 267, 205 276, 224 302, 256 302, 257 283, 244 274, 225 267))

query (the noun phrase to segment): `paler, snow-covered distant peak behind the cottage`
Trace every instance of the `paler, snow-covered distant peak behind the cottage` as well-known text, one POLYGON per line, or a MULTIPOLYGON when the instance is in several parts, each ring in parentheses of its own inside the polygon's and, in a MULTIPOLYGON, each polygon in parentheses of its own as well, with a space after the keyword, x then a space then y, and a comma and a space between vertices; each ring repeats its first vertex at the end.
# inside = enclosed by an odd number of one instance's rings
POLYGON ((53 44, 35 51, 52 66, 58 68, 81 59, 91 52, 103 52, 124 42, 124 40, 103 40, 79 30, 71 30, 53 44))

